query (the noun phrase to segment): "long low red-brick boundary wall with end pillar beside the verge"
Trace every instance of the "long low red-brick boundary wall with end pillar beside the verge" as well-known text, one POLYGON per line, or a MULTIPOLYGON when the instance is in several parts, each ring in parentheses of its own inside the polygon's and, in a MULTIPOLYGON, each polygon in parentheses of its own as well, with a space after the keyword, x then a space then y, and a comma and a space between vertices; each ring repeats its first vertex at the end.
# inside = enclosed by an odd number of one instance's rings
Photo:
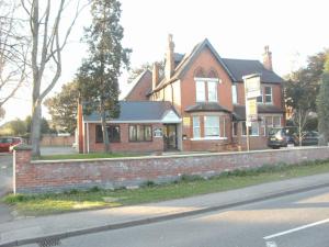
POLYGON ((172 181, 182 175, 209 177, 225 170, 316 159, 329 159, 329 147, 56 161, 31 161, 31 150, 18 148, 14 150, 14 192, 136 187, 148 180, 172 181))

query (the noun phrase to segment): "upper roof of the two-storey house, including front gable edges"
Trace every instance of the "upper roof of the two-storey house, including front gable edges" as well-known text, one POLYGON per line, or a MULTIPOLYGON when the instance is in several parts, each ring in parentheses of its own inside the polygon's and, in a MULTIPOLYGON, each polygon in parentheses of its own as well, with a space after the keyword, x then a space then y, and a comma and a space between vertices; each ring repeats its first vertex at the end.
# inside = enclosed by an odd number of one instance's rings
POLYGON ((229 78, 234 82, 242 82, 242 76, 250 74, 261 74, 261 81, 266 83, 281 83, 283 79, 274 71, 268 70, 259 60, 222 58, 207 38, 194 46, 190 54, 174 54, 177 65, 170 80, 163 78, 154 91, 158 91, 167 85, 179 80, 185 75, 198 54, 205 48, 209 48, 217 61, 222 65, 229 78))

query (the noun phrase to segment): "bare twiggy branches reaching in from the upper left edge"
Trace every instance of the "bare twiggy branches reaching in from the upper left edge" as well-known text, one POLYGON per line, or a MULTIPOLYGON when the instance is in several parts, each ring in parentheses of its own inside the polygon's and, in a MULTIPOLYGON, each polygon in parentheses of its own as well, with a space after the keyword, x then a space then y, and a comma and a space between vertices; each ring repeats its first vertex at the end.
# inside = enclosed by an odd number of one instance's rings
POLYGON ((26 79, 29 42, 21 34, 22 20, 15 16, 16 1, 0 1, 0 109, 26 79))

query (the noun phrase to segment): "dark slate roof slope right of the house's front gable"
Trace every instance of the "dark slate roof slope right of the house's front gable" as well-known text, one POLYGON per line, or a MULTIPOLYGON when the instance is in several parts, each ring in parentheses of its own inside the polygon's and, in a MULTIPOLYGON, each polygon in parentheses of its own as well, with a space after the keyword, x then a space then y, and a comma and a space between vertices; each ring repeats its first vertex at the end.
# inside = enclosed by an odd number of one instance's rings
POLYGON ((222 59, 234 77, 234 81, 242 82, 242 77, 251 74, 260 74, 261 81, 266 83, 281 83, 283 79, 275 72, 268 70, 259 60, 248 59, 222 59))

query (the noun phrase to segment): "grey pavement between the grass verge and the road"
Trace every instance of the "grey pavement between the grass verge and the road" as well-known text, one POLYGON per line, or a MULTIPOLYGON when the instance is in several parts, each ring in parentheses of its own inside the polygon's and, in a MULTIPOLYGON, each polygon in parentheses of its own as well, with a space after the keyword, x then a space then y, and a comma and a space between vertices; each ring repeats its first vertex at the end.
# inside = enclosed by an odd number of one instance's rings
POLYGON ((329 187, 329 173, 159 203, 24 218, 0 224, 0 246, 20 246, 41 242, 44 237, 66 238, 106 229, 149 224, 228 209, 320 187, 329 187))

